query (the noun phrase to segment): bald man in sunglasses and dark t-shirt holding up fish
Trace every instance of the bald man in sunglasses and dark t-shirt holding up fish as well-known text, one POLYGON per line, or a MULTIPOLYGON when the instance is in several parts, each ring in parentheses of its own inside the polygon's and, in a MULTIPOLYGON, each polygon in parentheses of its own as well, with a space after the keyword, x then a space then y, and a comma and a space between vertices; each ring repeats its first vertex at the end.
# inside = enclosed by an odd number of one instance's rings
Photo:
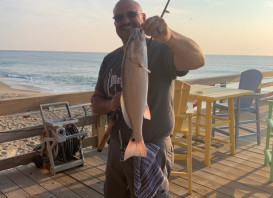
MULTIPOLYGON (((173 165, 170 140, 174 126, 173 80, 177 75, 184 76, 189 70, 203 66, 204 55, 194 41, 171 30, 162 18, 154 16, 146 19, 140 5, 134 0, 118 1, 113 14, 116 32, 123 47, 104 58, 91 99, 92 108, 95 113, 108 114, 109 117, 119 110, 124 47, 133 28, 142 28, 146 35, 154 39, 151 43, 147 39, 148 68, 151 71, 148 90, 151 120, 144 119, 142 133, 145 143, 160 147, 156 159, 165 178, 155 197, 169 197, 168 177, 173 165)), ((110 135, 105 197, 135 197, 133 157, 126 161, 120 159, 130 136, 131 130, 122 118, 119 119, 110 135)))

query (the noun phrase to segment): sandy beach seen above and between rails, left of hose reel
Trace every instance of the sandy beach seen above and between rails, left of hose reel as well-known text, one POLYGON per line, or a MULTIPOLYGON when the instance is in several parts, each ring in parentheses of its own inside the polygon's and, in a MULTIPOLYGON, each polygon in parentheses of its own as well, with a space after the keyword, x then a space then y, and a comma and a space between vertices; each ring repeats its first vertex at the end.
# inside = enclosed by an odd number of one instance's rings
MULTIPOLYGON (((41 93, 38 91, 13 89, 6 84, 0 82, 0 100, 40 96, 43 94, 45 93, 41 93)), ((27 117, 24 115, 10 115, 0 117, 0 131, 27 127, 35 124, 41 124, 41 118, 38 114, 31 117, 27 117)), ((26 138, 22 140, 0 143, 0 159, 29 152, 33 150, 33 148, 39 143, 40 137, 26 138)))

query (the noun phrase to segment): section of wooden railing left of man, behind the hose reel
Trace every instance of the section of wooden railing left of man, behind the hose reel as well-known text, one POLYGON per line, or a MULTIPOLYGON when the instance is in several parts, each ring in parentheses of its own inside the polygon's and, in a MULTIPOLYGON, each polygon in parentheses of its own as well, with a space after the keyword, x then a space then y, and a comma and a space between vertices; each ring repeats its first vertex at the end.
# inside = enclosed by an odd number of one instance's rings
MULTIPOLYGON (((18 98, 11 100, 0 101, 0 119, 3 116, 11 115, 27 115, 36 113, 40 109, 40 104, 56 103, 67 101, 71 106, 70 108, 78 108, 79 105, 90 106, 90 98, 93 92, 77 92, 69 94, 57 94, 57 95, 46 95, 39 97, 30 98, 18 98)), ((79 122, 76 124, 78 127, 83 125, 92 127, 92 136, 89 136, 83 140, 83 148, 90 147, 96 148, 98 142, 101 141, 105 133, 106 117, 99 115, 88 115, 79 117, 79 122)), ((34 136, 41 136, 44 131, 43 123, 38 125, 18 128, 14 130, 0 131, 0 143, 20 140, 23 138, 29 138, 34 136)), ((37 155, 36 152, 29 152, 14 157, 9 157, 0 160, 0 171, 12 167, 17 167, 19 165, 29 164, 33 162, 34 156, 37 155)))

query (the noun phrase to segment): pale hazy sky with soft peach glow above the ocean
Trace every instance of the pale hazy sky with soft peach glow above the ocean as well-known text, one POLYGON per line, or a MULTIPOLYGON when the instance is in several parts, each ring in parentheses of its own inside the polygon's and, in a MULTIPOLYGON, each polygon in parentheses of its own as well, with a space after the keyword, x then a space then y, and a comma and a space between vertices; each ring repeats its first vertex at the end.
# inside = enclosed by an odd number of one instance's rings
MULTIPOLYGON (((0 50, 110 52, 117 0, 0 0, 0 50)), ((147 17, 167 0, 138 0, 147 17)), ((205 54, 273 56, 273 0, 171 0, 168 26, 205 54)))

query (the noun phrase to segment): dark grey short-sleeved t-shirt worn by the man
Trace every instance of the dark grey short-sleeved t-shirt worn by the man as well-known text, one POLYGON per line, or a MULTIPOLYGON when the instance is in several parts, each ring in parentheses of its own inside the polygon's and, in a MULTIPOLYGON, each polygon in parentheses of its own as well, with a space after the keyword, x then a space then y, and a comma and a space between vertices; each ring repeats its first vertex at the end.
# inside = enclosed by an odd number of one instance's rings
MULTIPOLYGON (((148 43, 149 41, 147 41, 148 43)), ((109 53, 103 60, 96 90, 112 98, 121 91, 121 65, 123 48, 109 53)), ((184 76, 188 71, 177 72, 174 65, 174 54, 167 45, 152 41, 148 46, 149 74, 148 105, 151 120, 143 121, 143 138, 145 142, 153 142, 169 136, 174 127, 173 94, 176 76, 184 76)), ((122 122, 124 125, 124 122, 122 122)), ((130 130, 123 129, 123 141, 130 138, 130 130)), ((111 136, 116 136, 111 133, 111 136)))

